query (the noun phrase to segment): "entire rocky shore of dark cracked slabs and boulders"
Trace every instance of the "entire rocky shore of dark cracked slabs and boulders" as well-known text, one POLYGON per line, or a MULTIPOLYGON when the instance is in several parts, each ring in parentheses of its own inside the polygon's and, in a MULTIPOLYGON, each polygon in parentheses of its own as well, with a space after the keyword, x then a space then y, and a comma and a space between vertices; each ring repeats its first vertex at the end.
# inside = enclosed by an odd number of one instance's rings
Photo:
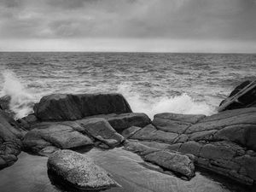
POLYGON ((119 94, 53 94, 16 121, 5 109, 0 109, 0 168, 14 164, 24 150, 49 156, 49 171, 77 189, 108 189, 119 185, 86 154, 73 151, 123 147, 183 179, 201 166, 239 183, 256 181, 254 105, 212 116, 159 113, 151 120, 133 113, 119 94))

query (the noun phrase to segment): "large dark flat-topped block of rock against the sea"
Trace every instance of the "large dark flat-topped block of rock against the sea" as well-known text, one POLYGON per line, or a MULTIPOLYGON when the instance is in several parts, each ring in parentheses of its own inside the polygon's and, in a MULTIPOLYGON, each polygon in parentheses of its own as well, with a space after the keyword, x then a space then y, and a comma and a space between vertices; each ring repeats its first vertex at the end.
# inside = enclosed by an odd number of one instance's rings
POLYGON ((124 96, 119 94, 53 94, 34 106, 40 120, 76 120, 96 114, 131 113, 124 96))

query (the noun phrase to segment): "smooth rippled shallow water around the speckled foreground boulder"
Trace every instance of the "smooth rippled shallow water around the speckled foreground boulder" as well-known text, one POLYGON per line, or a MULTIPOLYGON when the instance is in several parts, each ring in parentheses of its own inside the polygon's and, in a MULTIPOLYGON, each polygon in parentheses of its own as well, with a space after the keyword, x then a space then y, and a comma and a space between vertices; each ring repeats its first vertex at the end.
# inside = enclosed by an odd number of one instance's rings
MULTIPOLYGON (((122 187, 106 192, 253 192, 255 188, 230 181, 225 177, 197 170, 195 177, 184 181, 178 177, 143 165, 143 160, 122 148, 107 151, 93 148, 84 155, 108 171, 122 187)), ((47 158, 22 152, 14 166, 0 172, 1 192, 67 192, 47 173, 47 158), (33 168, 31 168, 33 167, 33 168)), ((156 169, 156 168, 155 168, 156 169)))

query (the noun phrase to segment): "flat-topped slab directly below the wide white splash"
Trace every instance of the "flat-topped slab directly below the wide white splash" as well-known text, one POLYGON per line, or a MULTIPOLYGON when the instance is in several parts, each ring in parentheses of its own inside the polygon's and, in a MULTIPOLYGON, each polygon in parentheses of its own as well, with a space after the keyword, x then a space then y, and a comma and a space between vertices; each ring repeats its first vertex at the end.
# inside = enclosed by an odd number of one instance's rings
POLYGON ((154 115, 152 124, 159 130, 181 134, 204 117, 205 115, 196 114, 159 113, 154 115))

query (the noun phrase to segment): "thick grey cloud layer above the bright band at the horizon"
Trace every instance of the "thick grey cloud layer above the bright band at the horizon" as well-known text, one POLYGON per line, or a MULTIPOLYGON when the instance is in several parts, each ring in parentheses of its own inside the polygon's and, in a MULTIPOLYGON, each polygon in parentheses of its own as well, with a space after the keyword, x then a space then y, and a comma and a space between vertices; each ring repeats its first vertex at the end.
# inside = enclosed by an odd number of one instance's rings
POLYGON ((0 39, 255 41, 255 0, 2 0, 0 39))

